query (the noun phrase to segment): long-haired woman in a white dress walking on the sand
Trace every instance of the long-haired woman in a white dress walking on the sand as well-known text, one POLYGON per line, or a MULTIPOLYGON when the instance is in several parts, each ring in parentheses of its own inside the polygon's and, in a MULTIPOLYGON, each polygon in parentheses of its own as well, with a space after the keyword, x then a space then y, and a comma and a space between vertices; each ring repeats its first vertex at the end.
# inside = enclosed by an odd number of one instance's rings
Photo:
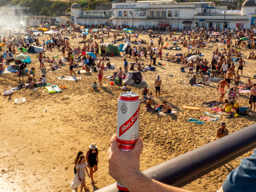
POLYGON ((85 171, 88 177, 90 178, 90 175, 87 170, 87 163, 85 162, 85 156, 80 155, 79 161, 77 161, 76 164, 76 169, 77 173, 75 174, 73 183, 70 185, 70 188, 76 189, 81 184, 80 192, 82 192, 83 187, 88 188, 87 186, 85 186, 85 171))

